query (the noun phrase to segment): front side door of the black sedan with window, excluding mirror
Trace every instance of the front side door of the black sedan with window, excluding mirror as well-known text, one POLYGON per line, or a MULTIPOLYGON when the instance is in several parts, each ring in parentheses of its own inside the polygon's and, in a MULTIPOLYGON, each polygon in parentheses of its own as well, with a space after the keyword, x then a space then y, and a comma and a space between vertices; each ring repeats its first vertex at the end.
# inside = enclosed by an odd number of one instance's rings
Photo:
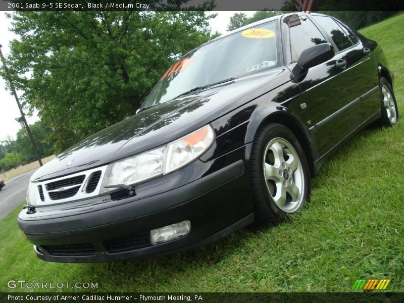
POLYGON ((355 116, 345 111, 352 100, 352 95, 346 92, 343 74, 347 62, 336 49, 332 59, 301 71, 297 65, 300 54, 313 45, 329 43, 329 38, 306 15, 289 15, 282 26, 287 40, 286 43, 283 40, 287 45, 285 60, 290 62, 286 66, 302 92, 292 100, 289 109, 312 134, 314 157, 318 159, 356 127, 355 116))

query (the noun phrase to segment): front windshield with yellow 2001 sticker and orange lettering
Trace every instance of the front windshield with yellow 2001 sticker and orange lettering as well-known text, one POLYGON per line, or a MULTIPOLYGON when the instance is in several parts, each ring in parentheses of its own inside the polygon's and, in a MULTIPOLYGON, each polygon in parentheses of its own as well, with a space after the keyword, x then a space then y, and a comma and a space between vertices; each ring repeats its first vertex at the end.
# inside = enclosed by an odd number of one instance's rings
POLYGON ((278 67, 276 24, 261 24, 193 49, 167 70, 142 108, 227 79, 278 67))

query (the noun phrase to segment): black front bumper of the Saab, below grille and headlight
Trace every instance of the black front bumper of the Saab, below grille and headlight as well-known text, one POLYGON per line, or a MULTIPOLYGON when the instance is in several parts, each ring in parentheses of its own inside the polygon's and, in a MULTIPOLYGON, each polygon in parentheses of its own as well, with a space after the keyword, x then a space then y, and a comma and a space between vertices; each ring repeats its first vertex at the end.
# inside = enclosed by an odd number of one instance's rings
POLYGON ((39 211, 28 215, 22 210, 18 224, 34 244, 37 256, 52 262, 138 259, 196 248, 254 221, 244 160, 221 162, 222 165, 217 160, 207 163, 220 168, 153 196, 105 203, 111 207, 98 201, 102 208, 93 201, 84 213, 82 207, 68 204, 47 214, 39 211), (191 222, 186 236, 150 244, 150 230, 185 220, 191 222))

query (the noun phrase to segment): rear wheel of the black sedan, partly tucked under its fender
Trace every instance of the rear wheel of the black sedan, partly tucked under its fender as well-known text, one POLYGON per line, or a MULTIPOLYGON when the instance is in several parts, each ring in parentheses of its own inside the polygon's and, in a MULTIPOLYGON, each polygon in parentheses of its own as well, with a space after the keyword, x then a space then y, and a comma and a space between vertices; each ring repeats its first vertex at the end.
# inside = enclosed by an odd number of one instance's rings
POLYGON ((380 118, 380 124, 382 126, 390 127, 398 120, 397 103, 391 85, 386 78, 380 78, 380 87, 382 91, 382 117, 380 118))

